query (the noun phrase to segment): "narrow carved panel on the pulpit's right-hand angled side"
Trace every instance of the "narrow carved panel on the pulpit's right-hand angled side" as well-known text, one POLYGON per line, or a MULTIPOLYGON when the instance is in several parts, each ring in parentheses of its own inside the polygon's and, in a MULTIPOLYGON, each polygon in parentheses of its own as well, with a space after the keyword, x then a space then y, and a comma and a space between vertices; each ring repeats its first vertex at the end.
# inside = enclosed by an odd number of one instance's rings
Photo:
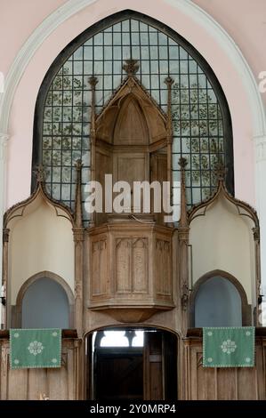
POLYGON ((156 292, 165 296, 172 294, 171 277, 171 243, 164 239, 156 239, 156 292))

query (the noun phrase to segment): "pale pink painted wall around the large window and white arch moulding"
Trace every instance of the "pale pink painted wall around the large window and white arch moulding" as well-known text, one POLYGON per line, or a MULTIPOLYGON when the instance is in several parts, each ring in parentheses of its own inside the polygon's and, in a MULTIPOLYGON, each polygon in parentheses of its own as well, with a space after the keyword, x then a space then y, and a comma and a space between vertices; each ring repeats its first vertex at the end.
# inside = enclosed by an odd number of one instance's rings
MULTIPOLYGON (((0 0, 0 71, 6 74, 21 44, 48 14, 63 3, 63 0, 0 0)), ((255 76, 266 70, 266 51, 262 43, 266 31, 264 0, 195 0, 195 3, 209 12, 234 38, 255 76)), ((229 101, 233 122, 236 196, 254 205, 251 112, 241 75, 227 54, 204 28, 178 12, 167 1, 98 0, 66 20, 44 41, 20 80, 10 122, 6 206, 13 205, 29 194, 36 96, 52 60, 85 28, 109 14, 128 8, 164 21, 193 44, 214 69, 229 101)), ((266 97, 263 99, 266 103, 266 97)))

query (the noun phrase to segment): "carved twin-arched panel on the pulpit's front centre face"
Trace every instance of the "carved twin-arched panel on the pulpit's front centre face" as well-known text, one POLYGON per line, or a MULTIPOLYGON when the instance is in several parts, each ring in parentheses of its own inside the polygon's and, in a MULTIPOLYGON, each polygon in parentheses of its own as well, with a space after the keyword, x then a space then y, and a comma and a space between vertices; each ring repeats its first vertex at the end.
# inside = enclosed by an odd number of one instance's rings
POLYGON ((123 237, 116 239, 117 293, 148 292, 148 239, 123 237))

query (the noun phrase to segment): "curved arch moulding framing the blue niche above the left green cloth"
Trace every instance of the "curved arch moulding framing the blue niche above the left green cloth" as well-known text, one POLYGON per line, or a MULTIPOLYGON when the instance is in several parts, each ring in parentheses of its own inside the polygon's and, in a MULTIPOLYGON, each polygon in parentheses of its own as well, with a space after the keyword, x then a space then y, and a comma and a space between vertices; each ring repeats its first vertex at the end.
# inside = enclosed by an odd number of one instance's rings
POLYGON ((37 280, 48 278, 52 279, 55 283, 60 285, 63 291, 67 295, 67 299, 69 302, 69 328, 73 328, 74 326, 74 294, 68 285, 68 283, 59 275, 52 273, 51 271, 41 271, 36 273, 34 276, 29 277, 26 282, 23 283, 20 287, 20 291, 17 295, 16 305, 12 307, 12 327, 20 328, 22 323, 22 303, 24 296, 26 295, 29 287, 36 283, 37 280))

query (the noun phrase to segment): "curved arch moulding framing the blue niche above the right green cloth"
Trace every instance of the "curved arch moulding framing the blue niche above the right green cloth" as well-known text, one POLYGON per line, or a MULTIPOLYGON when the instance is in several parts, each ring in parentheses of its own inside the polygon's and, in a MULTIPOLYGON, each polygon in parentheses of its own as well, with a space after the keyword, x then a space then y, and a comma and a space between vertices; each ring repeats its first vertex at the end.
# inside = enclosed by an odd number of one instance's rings
POLYGON ((189 326, 195 326, 195 304, 197 299, 197 293, 200 287, 204 285, 208 280, 214 277, 222 277, 226 280, 229 280, 230 283, 234 285, 234 287, 238 291, 241 300, 242 326, 252 325, 252 309, 251 305, 248 304, 244 287, 241 285, 241 283, 238 281, 236 277, 232 276, 227 271, 215 269, 213 271, 209 271, 204 276, 198 278, 197 282, 193 286, 189 299, 189 326))

